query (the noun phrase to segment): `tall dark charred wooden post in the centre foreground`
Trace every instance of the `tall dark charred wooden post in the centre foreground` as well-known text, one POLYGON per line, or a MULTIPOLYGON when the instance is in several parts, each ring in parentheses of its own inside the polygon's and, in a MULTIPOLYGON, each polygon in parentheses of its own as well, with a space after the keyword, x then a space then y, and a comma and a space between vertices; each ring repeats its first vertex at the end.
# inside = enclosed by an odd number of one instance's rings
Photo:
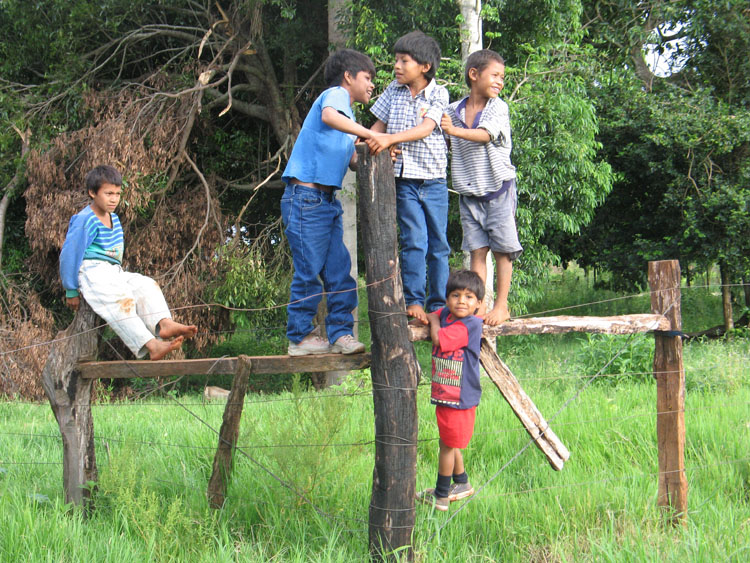
POLYGON ((367 267, 375 404, 375 469, 370 501, 370 553, 377 559, 414 552, 417 477, 417 378, 409 341, 396 239, 396 185, 388 151, 360 147, 359 207, 367 267))

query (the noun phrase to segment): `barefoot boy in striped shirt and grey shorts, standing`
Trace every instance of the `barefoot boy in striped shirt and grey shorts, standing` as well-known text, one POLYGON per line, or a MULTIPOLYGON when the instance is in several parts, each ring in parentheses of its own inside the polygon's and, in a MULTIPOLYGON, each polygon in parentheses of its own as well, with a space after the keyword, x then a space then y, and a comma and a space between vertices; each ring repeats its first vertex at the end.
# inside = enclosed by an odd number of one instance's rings
POLYGON ((453 189, 461 195, 461 248, 471 253, 471 269, 483 281, 487 252, 491 249, 495 256, 497 298, 484 315, 485 324, 492 326, 510 318, 513 261, 523 252, 516 231, 508 104, 498 98, 505 84, 505 61, 489 49, 476 51, 466 60, 465 79, 469 95, 448 107, 440 126, 451 139, 453 189))

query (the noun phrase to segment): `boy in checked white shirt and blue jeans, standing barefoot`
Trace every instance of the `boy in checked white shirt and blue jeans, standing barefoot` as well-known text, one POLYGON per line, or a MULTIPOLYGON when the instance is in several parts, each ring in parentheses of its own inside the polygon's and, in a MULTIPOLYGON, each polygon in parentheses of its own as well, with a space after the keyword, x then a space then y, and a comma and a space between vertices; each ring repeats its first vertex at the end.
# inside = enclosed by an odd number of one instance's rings
POLYGON ((445 305, 449 271, 448 158, 439 127, 448 91, 434 79, 440 64, 437 41, 413 31, 396 41, 393 50, 396 79, 370 110, 378 118, 373 131, 388 134, 365 142, 375 153, 397 144, 401 149, 393 171, 404 299, 407 314, 427 324, 427 313, 445 305))

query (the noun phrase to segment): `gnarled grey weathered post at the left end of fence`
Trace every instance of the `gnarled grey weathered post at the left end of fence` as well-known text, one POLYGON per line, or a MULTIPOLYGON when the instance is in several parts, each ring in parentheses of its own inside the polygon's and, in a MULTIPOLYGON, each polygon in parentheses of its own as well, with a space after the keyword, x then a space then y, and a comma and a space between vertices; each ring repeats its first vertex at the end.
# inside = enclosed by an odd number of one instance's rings
POLYGON ((42 370, 42 387, 49 399, 63 442, 65 502, 93 509, 91 483, 98 477, 91 416, 93 379, 83 379, 76 369, 82 358, 94 359, 98 317, 81 299, 73 322, 58 332, 42 370))

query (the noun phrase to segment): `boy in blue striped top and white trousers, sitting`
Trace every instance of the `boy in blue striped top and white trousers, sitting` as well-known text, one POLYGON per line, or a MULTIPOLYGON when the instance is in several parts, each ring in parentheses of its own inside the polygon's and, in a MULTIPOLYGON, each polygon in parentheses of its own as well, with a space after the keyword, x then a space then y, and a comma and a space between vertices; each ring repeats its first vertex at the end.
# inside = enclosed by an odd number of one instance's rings
POLYGON ((91 204, 70 219, 60 252, 65 303, 77 311, 83 295, 136 357, 160 360, 198 329, 172 320, 154 280, 122 269, 125 244, 114 212, 122 194, 120 173, 97 166, 86 175, 86 191, 91 204))

